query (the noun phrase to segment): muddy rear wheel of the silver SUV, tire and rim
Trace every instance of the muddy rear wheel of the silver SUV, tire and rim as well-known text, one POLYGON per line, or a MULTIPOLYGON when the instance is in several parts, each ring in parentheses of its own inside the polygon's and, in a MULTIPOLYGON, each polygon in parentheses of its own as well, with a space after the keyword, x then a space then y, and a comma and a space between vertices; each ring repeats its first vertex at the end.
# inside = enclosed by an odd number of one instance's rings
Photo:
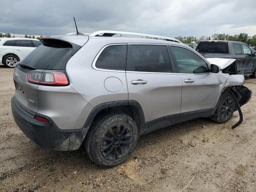
POLYGON ((133 152, 138 138, 134 120, 124 113, 98 118, 91 126, 85 148, 93 162, 113 167, 124 162, 133 152))

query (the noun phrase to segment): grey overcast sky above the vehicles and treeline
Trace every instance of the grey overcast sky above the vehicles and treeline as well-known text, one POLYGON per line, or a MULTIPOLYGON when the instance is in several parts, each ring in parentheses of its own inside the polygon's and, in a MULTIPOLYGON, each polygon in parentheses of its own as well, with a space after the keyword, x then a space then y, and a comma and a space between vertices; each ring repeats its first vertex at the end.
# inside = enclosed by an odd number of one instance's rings
POLYGON ((256 0, 0 0, 0 32, 118 30, 162 36, 256 34, 256 0))

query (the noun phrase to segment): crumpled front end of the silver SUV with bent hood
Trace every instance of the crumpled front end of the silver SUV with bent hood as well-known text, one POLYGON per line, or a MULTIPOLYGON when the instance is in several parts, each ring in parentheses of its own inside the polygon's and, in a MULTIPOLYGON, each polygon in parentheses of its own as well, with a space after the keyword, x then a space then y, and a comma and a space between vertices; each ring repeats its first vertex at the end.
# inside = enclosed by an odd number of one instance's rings
POLYGON ((225 58, 207 58, 207 60, 214 65, 217 65, 220 69, 218 73, 218 80, 220 82, 220 95, 223 92, 230 92, 234 98, 236 98, 236 110, 238 110, 240 115, 240 120, 232 128, 236 128, 242 123, 243 115, 241 106, 246 104, 252 97, 252 91, 247 87, 243 86, 244 76, 239 74, 230 74, 226 69, 230 68, 234 63, 235 59, 225 59, 225 58))

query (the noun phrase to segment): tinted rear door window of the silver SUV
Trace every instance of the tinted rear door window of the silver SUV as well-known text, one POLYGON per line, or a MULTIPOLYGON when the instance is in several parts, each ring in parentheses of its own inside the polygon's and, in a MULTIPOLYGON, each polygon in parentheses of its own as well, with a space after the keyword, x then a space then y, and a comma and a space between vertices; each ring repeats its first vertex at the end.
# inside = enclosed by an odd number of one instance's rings
POLYGON ((126 71, 172 72, 166 46, 131 45, 126 71))

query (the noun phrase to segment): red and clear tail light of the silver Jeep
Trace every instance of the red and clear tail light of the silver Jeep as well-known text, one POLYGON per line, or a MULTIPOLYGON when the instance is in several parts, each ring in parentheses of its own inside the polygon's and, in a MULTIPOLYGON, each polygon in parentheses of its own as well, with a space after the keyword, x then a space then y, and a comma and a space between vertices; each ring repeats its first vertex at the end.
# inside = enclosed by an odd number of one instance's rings
POLYGON ((36 71, 27 73, 28 82, 39 85, 66 86, 69 84, 65 71, 36 71))

